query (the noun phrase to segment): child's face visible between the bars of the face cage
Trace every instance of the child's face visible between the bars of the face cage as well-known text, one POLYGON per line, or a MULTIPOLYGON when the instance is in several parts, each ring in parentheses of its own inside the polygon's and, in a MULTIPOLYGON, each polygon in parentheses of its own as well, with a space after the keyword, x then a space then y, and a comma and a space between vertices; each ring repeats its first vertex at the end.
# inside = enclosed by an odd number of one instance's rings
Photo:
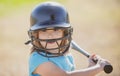
MULTIPOLYGON (((39 39, 56 39, 56 38, 61 38, 64 35, 63 31, 64 31, 63 29, 53 30, 51 28, 48 28, 45 31, 40 30, 39 31, 39 39)), ((57 40, 57 42, 60 45, 61 40, 57 40)), ((46 46, 46 41, 41 41, 41 44, 42 44, 43 47, 45 47, 46 46)), ((56 42, 48 42, 46 48, 50 49, 50 48, 56 48, 56 47, 58 47, 56 42)), ((51 51, 53 52, 53 50, 51 50, 51 51)))

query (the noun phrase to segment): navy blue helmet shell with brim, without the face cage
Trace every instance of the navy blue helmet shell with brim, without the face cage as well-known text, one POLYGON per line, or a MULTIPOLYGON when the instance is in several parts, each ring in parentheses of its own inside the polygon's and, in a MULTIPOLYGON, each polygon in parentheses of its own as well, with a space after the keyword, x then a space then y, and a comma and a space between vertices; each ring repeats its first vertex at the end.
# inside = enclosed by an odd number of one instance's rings
POLYGON ((36 6, 31 13, 31 30, 48 27, 70 27, 68 12, 55 2, 45 2, 36 6))

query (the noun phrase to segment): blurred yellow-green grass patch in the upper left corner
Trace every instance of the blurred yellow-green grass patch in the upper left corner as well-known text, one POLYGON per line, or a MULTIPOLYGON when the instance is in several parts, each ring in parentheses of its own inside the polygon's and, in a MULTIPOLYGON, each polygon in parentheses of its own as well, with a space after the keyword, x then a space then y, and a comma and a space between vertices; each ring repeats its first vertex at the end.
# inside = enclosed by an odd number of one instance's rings
POLYGON ((10 13, 10 11, 14 12, 21 6, 36 4, 42 1, 46 0, 0 0, 0 16, 10 13))

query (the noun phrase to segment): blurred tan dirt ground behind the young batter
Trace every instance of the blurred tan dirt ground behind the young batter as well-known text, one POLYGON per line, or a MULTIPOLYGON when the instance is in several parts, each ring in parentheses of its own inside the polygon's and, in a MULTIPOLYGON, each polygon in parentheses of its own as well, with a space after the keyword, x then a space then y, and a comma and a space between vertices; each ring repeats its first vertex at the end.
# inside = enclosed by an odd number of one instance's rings
MULTIPOLYGON (((120 3, 115 1, 67 0, 64 3, 74 28, 73 40, 113 65, 112 73, 102 72, 97 76, 120 76, 120 3)), ((20 7, 0 18, 0 76, 28 76, 30 46, 24 42, 29 39, 27 30, 33 6, 20 7)), ((85 56, 72 49, 71 52, 76 69, 87 67, 85 56)))

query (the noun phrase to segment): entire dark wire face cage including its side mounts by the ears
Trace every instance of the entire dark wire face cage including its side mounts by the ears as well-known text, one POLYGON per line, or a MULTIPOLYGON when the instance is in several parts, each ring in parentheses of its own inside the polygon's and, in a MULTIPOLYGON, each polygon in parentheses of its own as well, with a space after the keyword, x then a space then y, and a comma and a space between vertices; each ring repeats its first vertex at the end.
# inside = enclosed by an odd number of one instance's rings
MULTIPOLYGON (((58 27, 58 28, 67 29, 68 34, 67 34, 66 36, 62 37, 62 38, 57 38, 57 39, 37 39, 37 38, 35 38, 35 37, 32 35, 32 32, 33 32, 33 31, 32 31, 32 30, 29 30, 29 31, 28 31, 28 35, 29 35, 29 37, 31 38, 31 40, 29 40, 29 41, 26 42, 25 44, 31 43, 31 44, 33 45, 33 47, 35 48, 35 50, 36 50, 39 54, 41 54, 41 55, 43 55, 43 56, 45 56, 45 57, 57 57, 57 56, 61 56, 61 55, 63 55, 63 54, 69 49, 69 47, 70 47, 70 43, 71 43, 71 40, 72 40, 71 35, 72 35, 72 32, 73 32, 73 28, 72 28, 72 27, 67 27, 67 28, 58 27), (68 39, 68 41, 69 41, 68 44, 66 44, 66 45, 64 45, 64 46, 58 45, 57 40, 64 40, 64 39, 68 39), (36 45, 34 45, 34 43, 33 43, 34 40, 37 40, 37 41, 47 41, 47 42, 49 42, 49 41, 55 41, 55 42, 57 43, 58 47, 57 47, 57 48, 51 48, 51 49, 39 48, 39 47, 37 47, 36 45), (63 51, 62 53, 60 53, 60 49, 62 49, 62 48, 65 48, 65 51, 63 51), (44 50, 54 50, 54 49, 58 49, 58 50, 59 50, 58 53, 50 53, 50 52, 48 52, 48 51, 44 51, 44 50), (44 53, 46 53, 46 54, 44 55, 44 54, 42 54, 41 52, 44 52, 44 53), (51 55, 50 55, 50 54, 51 54, 51 55), (50 55, 50 56, 48 56, 48 55, 50 55)), ((58 29, 58 28, 57 28, 57 29, 58 29)), ((42 30, 42 29, 39 29, 39 30, 42 30)), ((38 30, 35 30, 35 31, 38 31, 38 30)), ((46 42, 46 46, 47 46, 47 42, 46 42)), ((61 41, 61 42, 62 42, 62 41, 61 41)))

